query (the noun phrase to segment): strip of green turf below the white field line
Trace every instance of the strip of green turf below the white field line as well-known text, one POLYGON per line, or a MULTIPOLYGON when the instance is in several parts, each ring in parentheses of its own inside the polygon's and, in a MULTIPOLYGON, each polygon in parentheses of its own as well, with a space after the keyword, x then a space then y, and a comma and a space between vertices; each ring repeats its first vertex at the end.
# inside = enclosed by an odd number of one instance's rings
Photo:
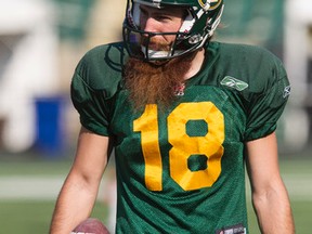
MULTIPOLYGON (((292 202, 291 204, 297 233, 310 234, 312 203, 292 202)), ((1 233, 48 233, 53 207, 52 202, 0 202, 1 233)), ((105 206, 98 203, 92 217, 105 222, 106 213, 105 206)), ((250 234, 260 234, 250 206, 248 206, 248 213, 250 234)))

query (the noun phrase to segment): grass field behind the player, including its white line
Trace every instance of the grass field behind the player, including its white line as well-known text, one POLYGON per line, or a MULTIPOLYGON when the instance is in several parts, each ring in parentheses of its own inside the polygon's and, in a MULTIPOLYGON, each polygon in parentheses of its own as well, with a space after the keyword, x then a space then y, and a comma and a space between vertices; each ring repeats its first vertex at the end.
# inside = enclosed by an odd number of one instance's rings
MULTIPOLYGON (((56 194, 70 164, 69 159, 3 160, 0 157, 0 233, 48 233, 56 194), (22 182, 14 182, 16 179, 22 182), (39 184, 34 188, 37 193, 34 198, 31 198, 31 194, 23 194, 25 191, 21 192, 23 191, 22 186, 36 186, 31 180, 39 184), (28 183, 26 183, 27 181, 28 183), (44 192, 46 188, 47 192, 44 192), (53 193, 47 195, 48 188, 53 193), (9 196, 8 193, 12 193, 12 196, 10 194, 9 196), (42 197, 40 193, 43 194, 42 197), (40 198, 36 198, 36 195, 40 198)), ((312 233, 310 227, 312 213, 311 168, 312 159, 281 161, 281 171, 289 191, 298 234, 312 233)), ((250 233, 259 234, 256 217, 250 206, 250 194, 247 193, 247 195, 250 233)), ((107 207, 102 200, 99 200, 93 210, 93 217, 105 221, 107 207)))

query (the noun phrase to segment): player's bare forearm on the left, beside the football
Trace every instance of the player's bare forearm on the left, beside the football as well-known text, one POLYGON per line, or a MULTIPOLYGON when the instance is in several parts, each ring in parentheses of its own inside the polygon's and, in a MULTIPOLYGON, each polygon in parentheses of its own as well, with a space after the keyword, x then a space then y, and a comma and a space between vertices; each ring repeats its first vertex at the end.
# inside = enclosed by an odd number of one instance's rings
POLYGON ((81 180, 69 176, 57 198, 50 234, 70 233, 78 223, 90 216, 96 194, 98 186, 81 183, 81 180))

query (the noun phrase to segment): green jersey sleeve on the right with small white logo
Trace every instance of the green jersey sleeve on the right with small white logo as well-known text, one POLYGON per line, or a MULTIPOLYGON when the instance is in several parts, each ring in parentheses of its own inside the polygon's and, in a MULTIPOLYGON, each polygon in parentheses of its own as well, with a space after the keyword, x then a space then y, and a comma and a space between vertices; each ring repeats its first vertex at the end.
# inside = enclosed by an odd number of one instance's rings
POLYGON ((275 131, 290 93, 290 84, 282 62, 269 52, 262 61, 263 64, 259 65, 263 67, 259 68, 256 76, 258 81, 256 80, 251 88, 256 91, 248 101, 245 141, 263 138, 275 131))

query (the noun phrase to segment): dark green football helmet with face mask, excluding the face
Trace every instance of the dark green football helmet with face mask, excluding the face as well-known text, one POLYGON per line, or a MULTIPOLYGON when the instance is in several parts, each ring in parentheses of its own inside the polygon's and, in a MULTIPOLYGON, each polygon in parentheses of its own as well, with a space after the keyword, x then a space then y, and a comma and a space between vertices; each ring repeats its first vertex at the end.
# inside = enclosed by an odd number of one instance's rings
POLYGON ((221 21, 223 0, 128 0, 122 35, 130 56, 144 61, 170 60, 193 52, 212 37, 221 21), (140 4, 162 9, 166 5, 186 9, 186 17, 179 31, 152 32, 140 27, 140 4), (176 40, 169 51, 155 51, 142 46, 140 38, 147 41, 159 35, 174 35, 176 40))

